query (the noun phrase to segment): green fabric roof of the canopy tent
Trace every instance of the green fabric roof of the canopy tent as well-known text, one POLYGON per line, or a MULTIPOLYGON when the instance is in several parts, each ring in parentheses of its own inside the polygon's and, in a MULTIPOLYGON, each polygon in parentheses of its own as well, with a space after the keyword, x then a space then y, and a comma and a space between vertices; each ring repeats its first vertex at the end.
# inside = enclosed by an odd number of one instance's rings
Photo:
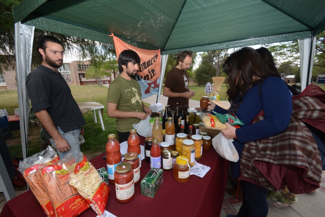
POLYGON ((164 54, 290 41, 325 29, 324 0, 24 0, 15 22, 164 54))

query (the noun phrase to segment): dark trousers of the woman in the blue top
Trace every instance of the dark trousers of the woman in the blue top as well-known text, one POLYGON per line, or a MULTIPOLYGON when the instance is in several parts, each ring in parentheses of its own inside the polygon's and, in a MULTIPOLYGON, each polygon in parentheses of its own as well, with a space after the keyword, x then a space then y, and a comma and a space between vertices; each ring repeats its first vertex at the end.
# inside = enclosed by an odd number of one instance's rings
POLYGON ((243 203, 237 217, 266 217, 268 206, 266 195, 268 190, 261 186, 241 180, 243 203))

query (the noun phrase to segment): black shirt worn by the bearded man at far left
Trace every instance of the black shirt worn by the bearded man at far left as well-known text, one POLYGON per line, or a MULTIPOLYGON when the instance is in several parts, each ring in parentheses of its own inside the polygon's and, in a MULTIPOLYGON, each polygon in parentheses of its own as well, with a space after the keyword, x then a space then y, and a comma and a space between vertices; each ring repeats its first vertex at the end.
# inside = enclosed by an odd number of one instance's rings
MULTIPOLYGON (((59 126, 66 133, 85 124, 79 106, 60 73, 40 65, 27 76, 26 87, 33 111, 46 109, 55 127, 59 126)), ((44 134, 47 139, 51 138, 45 129, 44 134)))

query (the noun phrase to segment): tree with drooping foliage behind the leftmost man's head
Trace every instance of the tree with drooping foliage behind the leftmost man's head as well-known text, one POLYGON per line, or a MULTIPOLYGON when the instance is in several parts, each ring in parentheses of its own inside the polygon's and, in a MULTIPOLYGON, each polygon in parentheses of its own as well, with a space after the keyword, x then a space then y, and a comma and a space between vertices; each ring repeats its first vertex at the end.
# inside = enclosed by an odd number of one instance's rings
MULTIPOLYGON (((13 8, 23 0, 0 0, 0 73, 9 68, 14 69, 15 62, 15 35, 13 8)), ((36 47, 37 39, 42 35, 51 34, 57 37, 63 44, 65 55, 74 54, 80 60, 95 60, 99 55, 115 54, 114 45, 78 38, 70 35, 52 33, 35 29, 33 47, 36 47)), ((36 49, 32 52, 32 69, 41 63, 36 49)))

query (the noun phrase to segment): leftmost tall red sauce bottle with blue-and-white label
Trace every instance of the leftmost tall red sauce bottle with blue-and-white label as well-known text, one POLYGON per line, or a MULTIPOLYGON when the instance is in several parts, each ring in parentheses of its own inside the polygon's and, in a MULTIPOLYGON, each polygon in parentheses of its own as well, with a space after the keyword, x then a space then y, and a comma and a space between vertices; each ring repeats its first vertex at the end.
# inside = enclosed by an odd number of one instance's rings
POLYGON ((109 134, 108 142, 106 144, 106 165, 108 173, 108 182, 111 184, 114 184, 115 167, 119 163, 122 163, 120 143, 116 140, 115 134, 109 134))

